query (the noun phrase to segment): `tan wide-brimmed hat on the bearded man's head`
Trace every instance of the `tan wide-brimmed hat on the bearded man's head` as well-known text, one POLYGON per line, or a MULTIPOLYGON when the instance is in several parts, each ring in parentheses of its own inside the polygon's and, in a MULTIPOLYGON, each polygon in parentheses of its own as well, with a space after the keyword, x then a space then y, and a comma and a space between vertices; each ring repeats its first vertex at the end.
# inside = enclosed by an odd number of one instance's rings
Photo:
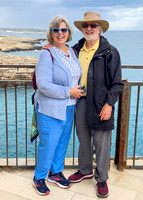
POLYGON ((97 22, 101 25, 103 33, 109 28, 109 23, 106 20, 101 20, 101 16, 97 12, 85 12, 83 21, 75 21, 74 25, 81 31, 84 22, 97 22))

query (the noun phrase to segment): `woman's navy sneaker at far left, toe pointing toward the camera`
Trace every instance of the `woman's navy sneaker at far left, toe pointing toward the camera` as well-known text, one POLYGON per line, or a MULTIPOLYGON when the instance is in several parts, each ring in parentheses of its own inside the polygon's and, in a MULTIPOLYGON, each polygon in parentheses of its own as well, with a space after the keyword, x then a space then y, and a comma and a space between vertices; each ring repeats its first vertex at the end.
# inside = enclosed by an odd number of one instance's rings
POLYGON ((33 186, 35 187, 36 192, 40 195, 47 195, 50 193, 50 190, 45 183, 45 179, 37 180, 37 178, 34 176, 33 186))

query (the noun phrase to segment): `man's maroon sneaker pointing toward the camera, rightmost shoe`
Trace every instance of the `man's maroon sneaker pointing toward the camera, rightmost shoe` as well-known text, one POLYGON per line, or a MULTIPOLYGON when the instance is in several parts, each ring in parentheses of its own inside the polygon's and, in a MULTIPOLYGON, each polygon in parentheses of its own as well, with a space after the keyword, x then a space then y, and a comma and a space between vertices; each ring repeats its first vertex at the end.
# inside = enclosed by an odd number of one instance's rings
POLYGON ((106 182, 97 183, 97 196, 106 198, 109 195, 108 186, 106 182))

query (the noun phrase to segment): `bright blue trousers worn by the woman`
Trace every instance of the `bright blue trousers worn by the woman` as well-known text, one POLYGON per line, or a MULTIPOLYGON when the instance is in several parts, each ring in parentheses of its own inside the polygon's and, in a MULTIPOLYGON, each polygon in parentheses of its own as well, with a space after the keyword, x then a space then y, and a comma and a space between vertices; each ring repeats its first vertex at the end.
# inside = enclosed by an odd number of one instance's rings
POLYGON ((36 106, 39 146, 35 177, 45 179, 50 170, 58 173, 64 169, 64 158, 72 132, 75 105, 67 106, 66 120, 59 120, 38 112, 36 106))

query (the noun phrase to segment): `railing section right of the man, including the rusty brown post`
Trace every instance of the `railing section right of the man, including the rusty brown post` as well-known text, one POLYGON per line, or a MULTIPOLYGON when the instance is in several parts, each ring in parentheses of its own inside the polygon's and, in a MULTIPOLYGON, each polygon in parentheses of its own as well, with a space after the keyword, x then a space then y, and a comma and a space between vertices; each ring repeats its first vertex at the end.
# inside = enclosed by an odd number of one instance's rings
MULTIPOLYGON (((116 134, 116 153, 115 163, 119 170, 124 168, 143 168, 143 154, 142 156, 136 156, 137 147, 137 129, 139 121, 139 103, 141 88, 143 88, 143 82, 127 82, 124 80, 123 94, 119 98, 118 102, 118 120, 117 120, 117 134, 116 134), (136 99, 136 111, 135 111, 135 127, 134 127, 134 141, 133 141, 133 156, 127 156, 127 147, 129 140, 129 125, 130 125, 130 109, 131 109, 131 89, 137 87, 137 99, 136 99)), ((140 109, 143 109, 141 104, 140 109)), ((143 120, 141 116, 140 120, 143 120)), ((133 122, 132 122, 133 123, 133 122)), ((143 129, 141 130, 143 132, 143 129)), ((143 135, 143 134, 142 134, 143 135)), ((140 138, 143 142, 143 137, 140 138)), ((142 144, 142 142, 140 142, 142 144)), ((142 148, 143 149, 143 148, 142 148)))

